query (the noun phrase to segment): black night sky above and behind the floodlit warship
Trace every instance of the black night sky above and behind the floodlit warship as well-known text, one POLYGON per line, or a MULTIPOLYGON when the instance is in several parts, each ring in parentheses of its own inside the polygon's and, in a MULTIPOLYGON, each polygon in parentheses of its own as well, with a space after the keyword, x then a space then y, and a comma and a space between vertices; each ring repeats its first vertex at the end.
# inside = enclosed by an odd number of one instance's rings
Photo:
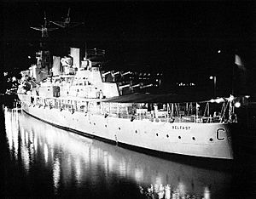
POLYGON ((1 71, 26 69, 40 38, 29 27, 43 24, 44 10, 49 20, 61 20, 71 8, 72 20, 85 26, 50 32, 55 54, 63 43, 84 48, 86 42, 107 50, 109 68, 166 71, 177 80, 229 72, 240 54, 250 78, 255 74, 253 1, 15 2, 1 8, 1 71))

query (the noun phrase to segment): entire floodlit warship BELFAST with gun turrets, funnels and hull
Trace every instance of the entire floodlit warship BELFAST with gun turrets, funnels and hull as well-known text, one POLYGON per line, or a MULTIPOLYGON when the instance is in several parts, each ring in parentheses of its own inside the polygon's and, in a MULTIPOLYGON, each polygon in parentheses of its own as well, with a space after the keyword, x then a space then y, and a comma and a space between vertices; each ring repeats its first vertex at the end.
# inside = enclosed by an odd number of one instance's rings
MULTIPOLYGON (((48 37, 46 23, 39 31, 48 37)), ((137 93, 134 88, 152 84, 116 82, 117 72, 102 71, 101 59, 97 59, 102 56, 105 50, 96 48, 86 50, 83 60, 79 48, 70 48, 70 54, 62 58, 41 49, 37 64, 21 72, 22 110, 55 127, 114 145, 234 158, 231 134, 237 123, 236 97, 137 93)))

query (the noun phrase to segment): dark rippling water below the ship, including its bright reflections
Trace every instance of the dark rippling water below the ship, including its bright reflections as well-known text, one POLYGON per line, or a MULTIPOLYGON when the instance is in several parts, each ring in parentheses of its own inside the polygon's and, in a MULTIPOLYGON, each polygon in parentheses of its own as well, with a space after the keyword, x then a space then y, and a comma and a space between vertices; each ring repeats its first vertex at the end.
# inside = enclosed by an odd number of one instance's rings
POLYGON ((191 166, 87 139, 26 113, 1 115, 2 198, 253 198, 253 159, 247 161, 228 170, 191 166))

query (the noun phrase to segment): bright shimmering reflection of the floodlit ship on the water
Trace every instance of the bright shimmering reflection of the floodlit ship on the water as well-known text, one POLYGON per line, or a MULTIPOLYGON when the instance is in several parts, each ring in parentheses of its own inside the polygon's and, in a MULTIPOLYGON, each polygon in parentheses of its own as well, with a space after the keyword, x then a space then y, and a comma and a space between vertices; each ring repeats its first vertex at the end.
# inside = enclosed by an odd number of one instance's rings
POLYGON ((5 111, 5 127, 10 156, 32 183, 45 180, 52 195, 207 199, 220 198, 229 188, 230 173, 87 139, 22 112, 5 111))

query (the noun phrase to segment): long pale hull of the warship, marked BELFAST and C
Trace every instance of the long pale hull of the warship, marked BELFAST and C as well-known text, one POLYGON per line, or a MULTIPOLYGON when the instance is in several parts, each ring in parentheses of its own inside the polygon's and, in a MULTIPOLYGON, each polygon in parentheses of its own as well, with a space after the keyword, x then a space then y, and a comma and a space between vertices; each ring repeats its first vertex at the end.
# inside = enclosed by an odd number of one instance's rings
POLYGON ((19 96, 21 107, 32 117, 58 128, 102 139, 117 145, 131 145, 150 151, 186 156, 233 159, 232 123, 151 122, 30 105, 19 96))

